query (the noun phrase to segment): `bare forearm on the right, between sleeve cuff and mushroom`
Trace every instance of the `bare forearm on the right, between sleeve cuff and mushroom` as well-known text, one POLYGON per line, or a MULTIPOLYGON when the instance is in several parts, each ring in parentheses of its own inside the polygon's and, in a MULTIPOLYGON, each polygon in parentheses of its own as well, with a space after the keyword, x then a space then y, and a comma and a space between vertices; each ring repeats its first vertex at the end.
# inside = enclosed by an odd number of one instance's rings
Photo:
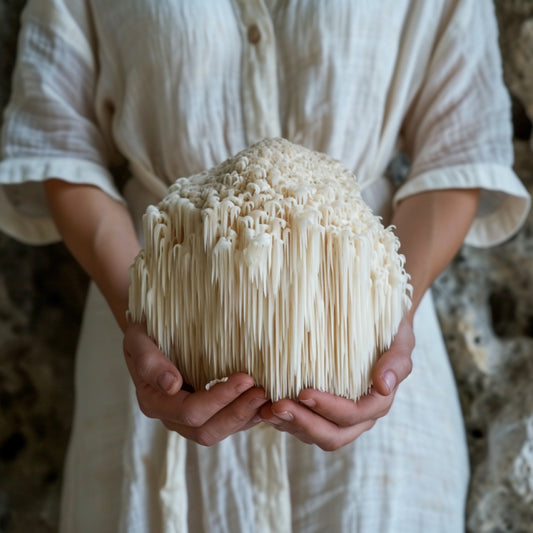
POLYGON ((411 321, 426 290, 461 247, 478 198, 477 189, 446 189, 417 194, 398 205, 392 224, 413 285, 411 321))

